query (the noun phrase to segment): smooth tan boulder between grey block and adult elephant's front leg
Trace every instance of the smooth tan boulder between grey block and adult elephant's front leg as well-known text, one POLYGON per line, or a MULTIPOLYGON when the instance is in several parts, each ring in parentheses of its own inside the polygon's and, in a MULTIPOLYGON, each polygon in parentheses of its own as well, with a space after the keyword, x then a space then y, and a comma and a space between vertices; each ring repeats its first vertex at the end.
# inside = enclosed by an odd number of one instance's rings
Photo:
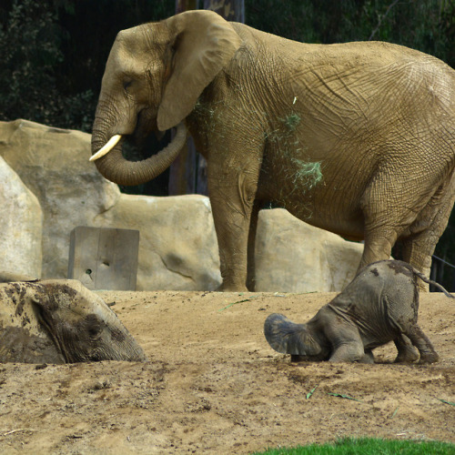
POLYGON ((214 290, 221 284, 208 197, 122 195, 95 225, 140 231, 137 290, 214 290))

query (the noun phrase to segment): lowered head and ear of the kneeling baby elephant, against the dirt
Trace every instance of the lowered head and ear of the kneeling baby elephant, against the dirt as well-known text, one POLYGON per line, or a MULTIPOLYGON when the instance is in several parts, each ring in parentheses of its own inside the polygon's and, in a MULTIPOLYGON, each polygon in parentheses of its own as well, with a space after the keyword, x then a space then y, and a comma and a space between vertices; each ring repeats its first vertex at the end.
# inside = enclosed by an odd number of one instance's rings
POLYGON ((268 344, 281 354, 317 356, 321 349, 305 324, 295 324, 286 316, 274 313, 264 323, 268 344))

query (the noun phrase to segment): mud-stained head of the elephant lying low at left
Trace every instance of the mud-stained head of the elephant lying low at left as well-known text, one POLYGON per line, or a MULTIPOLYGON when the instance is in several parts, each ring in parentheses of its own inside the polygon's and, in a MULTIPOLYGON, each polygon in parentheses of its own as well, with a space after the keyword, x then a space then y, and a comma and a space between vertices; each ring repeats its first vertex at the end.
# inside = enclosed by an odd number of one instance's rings
POLYGON ((67 363, 146 360, 114 311, 79 281, 45 280, 21 286, 21 296, 31 301, 39 325, 67 363))

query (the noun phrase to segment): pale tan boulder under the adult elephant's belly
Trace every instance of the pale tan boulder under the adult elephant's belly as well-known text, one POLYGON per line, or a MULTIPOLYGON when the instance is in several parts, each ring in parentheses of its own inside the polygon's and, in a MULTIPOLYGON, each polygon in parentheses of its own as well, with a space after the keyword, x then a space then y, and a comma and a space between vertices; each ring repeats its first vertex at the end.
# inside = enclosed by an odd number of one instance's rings
POLYGON ((256 290, 340 291, 354 278, 363 245, 309 226, 283 208, 259 212, 256 290))

